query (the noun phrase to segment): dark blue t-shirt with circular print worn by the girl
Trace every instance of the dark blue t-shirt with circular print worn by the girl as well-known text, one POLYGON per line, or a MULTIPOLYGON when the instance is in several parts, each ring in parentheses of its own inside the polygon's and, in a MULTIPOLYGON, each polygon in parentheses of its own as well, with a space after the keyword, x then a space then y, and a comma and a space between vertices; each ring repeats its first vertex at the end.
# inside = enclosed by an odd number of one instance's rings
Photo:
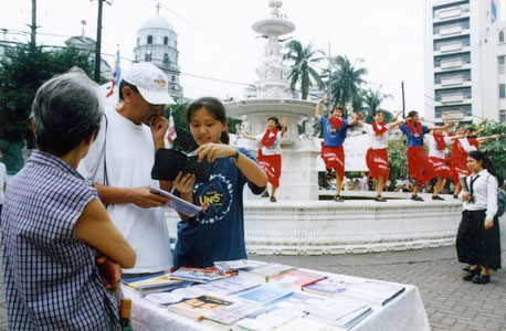
MULTIPOLYGON (((239 150, 256 162, 246 149, 239 150)), ((204 268, 215 260, 247 258, 242 196, 246 183, 255 194, 264 191, 249 182, 229 158, 220 158, 213 162, 209 181, 194 184, 193 203, 207 207, 189 221, 178 223, 175 268, 204 268)))

